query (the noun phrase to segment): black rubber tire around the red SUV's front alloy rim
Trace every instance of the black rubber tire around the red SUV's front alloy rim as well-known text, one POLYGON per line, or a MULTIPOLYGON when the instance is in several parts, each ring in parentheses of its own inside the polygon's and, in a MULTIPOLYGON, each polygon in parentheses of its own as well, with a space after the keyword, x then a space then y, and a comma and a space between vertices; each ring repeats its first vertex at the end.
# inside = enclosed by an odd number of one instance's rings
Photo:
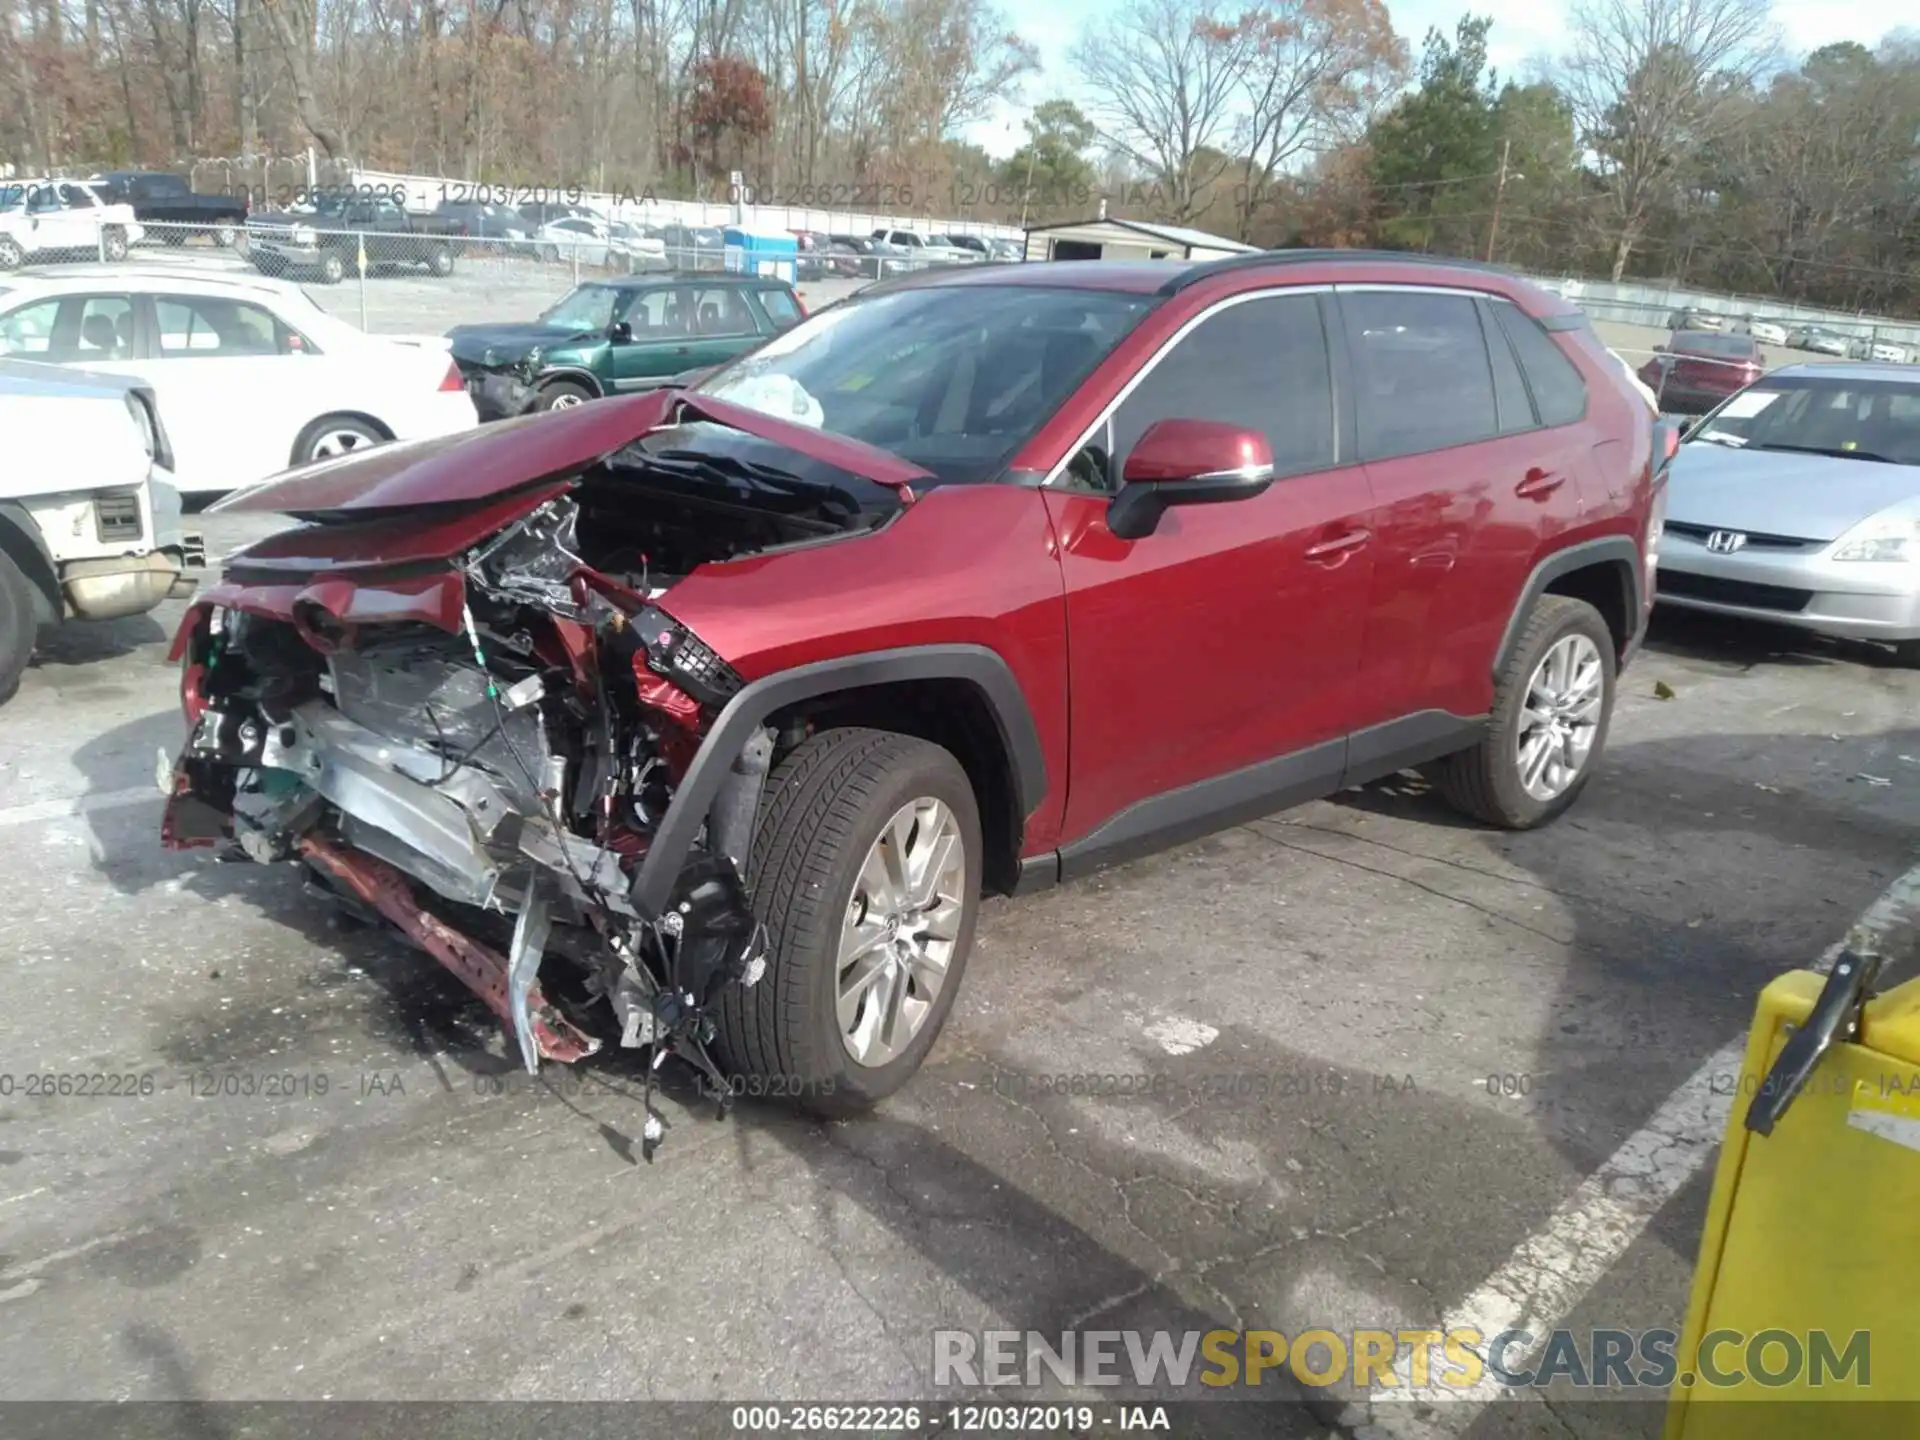
POLYGON ((920 1069, 939 1039, 973 948, 983 862, 979 808, 960 762, 887 730, 828 730, 768 778, 753 841, 753 912, 770 939, 758 985, 730 985, 714 1056, 747 1094, 793 1098, 816 1116, 870 1110, 920 1069), (860 864, 887 820, 920 797, 952 810, 968 893, 941 993, 914 1039, 883 1066, 860 1066, 837 1020, 839 935, 860 864))

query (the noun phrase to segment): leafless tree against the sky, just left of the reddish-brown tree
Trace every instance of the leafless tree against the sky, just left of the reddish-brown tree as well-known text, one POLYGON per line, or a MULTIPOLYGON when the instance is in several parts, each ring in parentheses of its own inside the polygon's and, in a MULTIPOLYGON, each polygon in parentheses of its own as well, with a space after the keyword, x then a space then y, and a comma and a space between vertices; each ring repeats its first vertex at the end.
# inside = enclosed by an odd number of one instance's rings
POLYGON ((1229 161, 1248 33, 1217 0, 1131 0, 1073 46, 1087 115, 1148 171, 1167 217, 1190 221, 1229 161))

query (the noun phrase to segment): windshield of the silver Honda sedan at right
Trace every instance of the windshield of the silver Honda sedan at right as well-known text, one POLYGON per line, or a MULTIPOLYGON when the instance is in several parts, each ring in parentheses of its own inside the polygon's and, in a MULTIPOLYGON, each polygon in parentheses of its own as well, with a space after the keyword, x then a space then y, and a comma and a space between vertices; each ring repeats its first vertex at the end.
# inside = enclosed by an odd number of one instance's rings
POLYGON ((1703 419, 1695 442, 1920 465, 1920 382, 1763 380, 1703 419))

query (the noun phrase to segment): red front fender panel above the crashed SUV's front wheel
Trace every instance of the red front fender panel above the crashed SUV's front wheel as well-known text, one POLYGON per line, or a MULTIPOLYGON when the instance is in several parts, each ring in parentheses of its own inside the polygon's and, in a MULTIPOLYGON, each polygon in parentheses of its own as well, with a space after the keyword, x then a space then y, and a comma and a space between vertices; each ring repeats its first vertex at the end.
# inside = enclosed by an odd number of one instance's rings
POLYGON ((747 680, 900 645, 985 645, 1033 710, 1048 793, 1025 851, 1060 839, 1068 787, 1066 605, 1041 493, 933 490, 881 530, 703 564, 659 601, 747 680))

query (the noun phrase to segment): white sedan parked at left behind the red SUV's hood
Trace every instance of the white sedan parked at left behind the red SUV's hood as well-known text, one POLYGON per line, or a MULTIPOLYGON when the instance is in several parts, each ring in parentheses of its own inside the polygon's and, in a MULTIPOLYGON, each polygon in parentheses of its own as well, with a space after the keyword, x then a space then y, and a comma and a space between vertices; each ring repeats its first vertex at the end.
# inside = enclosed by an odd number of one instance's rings
POLYGON ((444 340, 369 336, 298 286, 259 276, 159 267, 0 276, 0 355, 150 384, 184 493, 480 422, 444 340))

